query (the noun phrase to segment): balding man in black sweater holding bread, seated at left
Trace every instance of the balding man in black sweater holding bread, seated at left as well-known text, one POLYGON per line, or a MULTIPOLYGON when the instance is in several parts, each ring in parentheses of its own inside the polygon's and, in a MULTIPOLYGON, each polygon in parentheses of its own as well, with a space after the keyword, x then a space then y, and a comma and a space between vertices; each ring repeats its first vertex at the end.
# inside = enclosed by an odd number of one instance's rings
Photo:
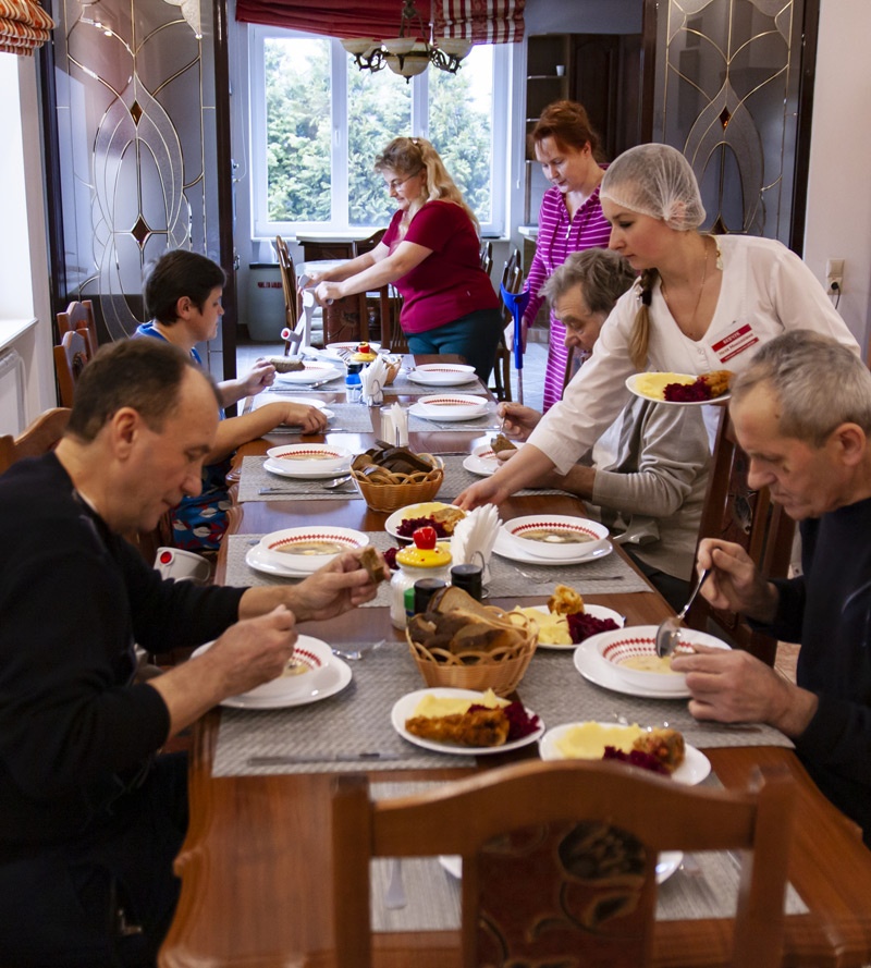
POLYGON ((372 598, 353 554, 295 587, 162 580, 121 536, 200 487, 218 400, 157 340, 103 347, 54 453, 0 476, 0 965, 154 965, 177 897, 165 740, 280 675, 298 621, 372 598), (138 683, 134 642, 211 649, 138 683), (132 927, 135 926, 135 927, 132 927))

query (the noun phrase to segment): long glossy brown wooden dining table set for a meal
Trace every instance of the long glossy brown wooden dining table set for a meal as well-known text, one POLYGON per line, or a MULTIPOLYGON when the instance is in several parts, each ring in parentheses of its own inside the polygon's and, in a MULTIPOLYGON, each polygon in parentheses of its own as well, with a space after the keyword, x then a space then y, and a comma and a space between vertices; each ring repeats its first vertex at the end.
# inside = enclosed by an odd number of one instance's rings
MULTIPOLYGON (((404 376, 413 365, 414 360, 407 358, 396 385, 388 388, 385 402, 396 400, 403 405, 415 402, 419 388, 404 376)), ((307 441, 328 440, 361 452, 378 438, 378 408, 356 404, 359 409, 352 411, 344 389, 339 384, 317 391, 296 387, 293 390, 304 399, 320 400, 335 414, 331 429, 324 436, 307 437, 307 441), (361 426, 370 429, 359 429, 361 426)), ((479 391, 486 392, 483 388, 479 391)), ((271 399, 270 394, 265 396, 271 399)), ((451 458, 462 461, 492 433, 496 424, 493 409, 491 407, 486 427, 471 430, 459 425, 424 429, 420 424, 413 424, 410 445, 417 452, 443 455, 445 462, 451 458)), ((250 572, 244 564, 244 549, 259 536, 284 527, 318 522, 353 527, 370 536, 383 534, 388 515, 368 508, 354 492, 333 493, 329 498, 315 493, 308 497, 259 493, 257 485, 261 477, 258 475, 262 474, 260 465, 266 451, 297 440, 292 433, 277 432, 240 449, 233 471, 238 502, 231 515, 231 531, 219 555, 218 581, 280 580, 258 578, 250 572), (246 569, 250 573, 247 578, 246 569)), ((456 475, 452 480, 455 488, 463 483, 456 475)), ((440 500, 451 497, 452 493, 439 494, 440 500)), ((511 519, 543 510, 582 514, 581 505, 574 497, 539 491, 514 495, 500 506, 500 516, 511 519)), ((628 625, 657 624, 672 614, 667 603, 647 584, 619 548, 615 548, 606 561, 613 562, 614 567, 604 569, 609 574, 602 575, 600 583, 594 578, 581 581, 585 601, 614 609, 626 616, 628 625), (616 573, 619 577, 615 577, 616 573)), ((526 566, 518 565, 518 569, 520 567, 526 566)), ((525 584, 522 592, 493 597, 489 603, 503 608, 542 603, 545 596, 541 579, 530 575, 525 584)), ((317 703, 322 707, 319 710, 321 718, 317 720, 321 724, 319 728, 329 728, 323 726, 329 723, 329 716, 339 716, 340 712, 346 711, 355 695, 380 696, 383 701, 383 693, 371 690, 375 689, 373 683, 385 675, 388 682, 393 682, 390 676, 395 675, 396 683, 404 683, 406 688, 424 686, 404 634, 392 626, 389 609, 383 602, 328 622, 300 624, 299 632, 351 651, 384 640, 377 651, 364 652, 360 661, 348 662, 354 675, 352 689, 317 703), (360 689, 354 694, 358 679, 370 691, 360 689)), ((527 697, 536 696, 537 701, 545 703, 552 699, 547 690, 554 690, 554 682, 581 683, 581 676, 573 669, 572 653, 544 654, 539 650, 518 687, 519 698, 532 706, 527 697)), ((584 697, 582 702, 577 700, 579 708, 575 718, 578 720, 598 719, 602 715, 601 710, 613 709, 622 715, 638 716, 640 721, 642 715, 650 716, 650 710, 657 703, 662 704, 661 711, 655 713, 660 720, 668 718, 680 722, 682 716, 684 721, 688 720, 685 702, 646 700, 637 703, 630 696, 587 683, 584 686, 588 691, 578 694, 584 697), (599 714, 590 714, 590 710, 599 710, 599 714)), ((551 708, 565 708, 557 700, 553 701, 555 704, 551 708)), ((214 709, 196 724, 189 761, 191 822, 176 859, 176 872, 182 881, 181 899, 160 952, 162 968, 330 968, 334 965, 330 796, 336 773, 352 764, 340 761, 308 767, 305 762, 296 762, 286 770, 281 767, 274 770, 236 769, 234 763, 237 760, 226 752, 228 747, 238 744, 241 736, 259 737, 262 743, 273 726, 290 737, 285 742, 291 743, 291 749, 297 740, 300 749, 310 749, 306 745, 310 737, 305 735, 305 728, 311 721, 300 716, 299 711, 299 708, 270 710, 268 713, 214 709)), ((382 708, 377 701, 365 713, 372 723, 390 714, 389 708, 382 708)), ((559 721, 551 722, 548 715, 544 719, 547 726, 556 725, 559 721)), ((689 728, 694 728, 691 724, 689 728)), ((751 781, 756 768, 762 767, 786 769, 797 784, 799 807, 789 870, 794 905, 792 909, 787 906, 783 964, 859 968, 871 963, 871 851, 863 846, 856 825, 819 793, 790 744, 772 738, 773 731, 761 736, 752 728, 746 733, 735 731, 724 738, 725 731, 706 733, 702 724, 698 728, 699 732, 691 732, 690 736, 711 762, 709 782, 743 787, 751 781)), ((331 742, 339 743, 334 733, 326 732, 320 745, 331 742)), ((427 756, 426 751, 415 750, 418 752, 427 756)), ((445 782, 468 775, 471 770, 536 755, 536 747, 529 746, 514 753, 479 757, 471 762, 469 758, 437 755, 431 765, 412 756, 407 765, 390 762, 378 768, 357 763, 353 767, 364 769, 371 783, 391 784, 384 788, 396 791, 404 788, 402 784, 445 782), (395 769, 397 765, 400 769, 395 769)), ((679 890, 679 881, 684 879, 683 890, 690 897, 697 884, 697 893, 700 893, 702 885, 694 880, 698 870, 698 866, 695 869, 682 867, 672 878, 678 885, 675 890, 679 890)), ((431 874, 427 874, 428 881, 430 878, 431 874)), ((375 964, 379 968, 458 968, 462 964, 456 924, 433 928, 425 923, 421 927, 404 924, 401 919, 391 921, 390 918, 388 922, 393 924, 393 930, 373 935, 375 964)), ((731 964, 729 923, 729 918, 715 908, 707 914, 702 910, 701 916, 697 912, 691 918, 658 921, 654 963, 712 968, 731 964)))

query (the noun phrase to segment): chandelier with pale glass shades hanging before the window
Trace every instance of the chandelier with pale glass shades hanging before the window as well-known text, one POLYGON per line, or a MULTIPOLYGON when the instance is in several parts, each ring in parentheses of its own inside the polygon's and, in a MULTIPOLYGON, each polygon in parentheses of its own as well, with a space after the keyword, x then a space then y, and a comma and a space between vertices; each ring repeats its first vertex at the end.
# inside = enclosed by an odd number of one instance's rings
POLYGON ((394 74, 409 81, 422 74, 430 64, 440 71, 456 74, 459 62, 471 50, 471 40, 456 37, 433 37, 433 23, 418 13, 414 0, 403 0, 400 36, 389 40, 355 37, 343 40, 342 47, 354 54, 360 71, 380 71, 388 66, 394 74))

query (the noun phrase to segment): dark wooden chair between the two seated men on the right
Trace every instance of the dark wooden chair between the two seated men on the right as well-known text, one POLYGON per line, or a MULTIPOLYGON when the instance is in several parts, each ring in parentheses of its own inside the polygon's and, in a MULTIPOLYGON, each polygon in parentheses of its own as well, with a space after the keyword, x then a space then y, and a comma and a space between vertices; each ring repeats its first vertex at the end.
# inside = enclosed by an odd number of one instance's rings
MULTIPOLYGON (((792 559, 795 522, 771 500, 768 488, 755 491, 749 487, 749 458, 738 446, 728 409, 722 409, 699 539, 735 541, 747 551, 763 575, 785 578, 792 559)), ((769 665, 774 664, 775 639, 755 632, 737 612, 712 609, 702 596, 689 610, 687 624, 700 632, 712 632, 769 665)))

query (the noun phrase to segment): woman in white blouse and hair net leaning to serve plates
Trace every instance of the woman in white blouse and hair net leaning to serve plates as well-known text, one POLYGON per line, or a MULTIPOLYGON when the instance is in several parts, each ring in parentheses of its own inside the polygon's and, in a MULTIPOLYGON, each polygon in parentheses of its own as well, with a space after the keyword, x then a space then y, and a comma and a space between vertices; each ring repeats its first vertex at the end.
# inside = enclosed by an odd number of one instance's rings
POLYGON ((461 507, 498 504, 554 468, 565 474, 625 406, 633 373, 739 372, 759 345, 799 328, 859 352, 823 287, 786 246, 698 231, 704 220, 699 186, 675 148, 625 151, 605 172, 600 194, 610 247, 639 280, 617 302, 562 401, 519 454, 459 494, 461 507))

